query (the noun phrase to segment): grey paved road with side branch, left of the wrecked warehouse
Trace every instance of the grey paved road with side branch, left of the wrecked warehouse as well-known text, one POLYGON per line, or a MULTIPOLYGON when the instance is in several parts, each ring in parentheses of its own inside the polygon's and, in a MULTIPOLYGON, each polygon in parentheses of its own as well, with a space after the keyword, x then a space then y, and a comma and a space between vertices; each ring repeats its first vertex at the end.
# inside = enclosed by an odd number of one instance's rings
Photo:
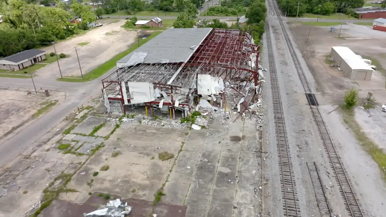
MULTIPOLYGON (((114 70, 115 68, 100 76, 100 78, 86 83, 67 83, 39 76, 34 78, 37 89, 53 89, 66 92, 66 99, 8 140, 5 138, 0 139, 0 166, 15 158, 25 149, 36 146, 34 142, 56 127, 76 107, 90 100, 89 95, 100 95, 102 88, 100 80, 114 70)), ((34 88, 32 81, 29 79, 1 78, 0 80, 0 88, 17 89, 20 87, 30 88, 30 90, 34 88)))

